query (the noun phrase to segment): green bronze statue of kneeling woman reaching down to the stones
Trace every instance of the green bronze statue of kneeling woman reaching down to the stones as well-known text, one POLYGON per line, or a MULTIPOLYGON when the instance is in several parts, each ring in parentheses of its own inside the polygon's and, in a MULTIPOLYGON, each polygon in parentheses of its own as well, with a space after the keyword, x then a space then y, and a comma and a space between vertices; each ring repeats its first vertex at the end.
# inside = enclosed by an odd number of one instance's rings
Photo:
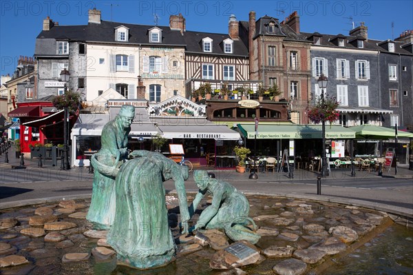
POLYGON ((248 217, 249 203, 244 194, 225 181, 209 177, 204 170, 195 170, 193 179, 200 190, 189 207, 190 216, 193 216, 205 194, 212 196, 212 204, 202 211, 190 232, 202 228, 224 229, 225 234, 233 241, 246 240, 255 244, 260 240, 260 235, 246 227, 251 223, 253 230, 256 230, 254 221, 248 217))

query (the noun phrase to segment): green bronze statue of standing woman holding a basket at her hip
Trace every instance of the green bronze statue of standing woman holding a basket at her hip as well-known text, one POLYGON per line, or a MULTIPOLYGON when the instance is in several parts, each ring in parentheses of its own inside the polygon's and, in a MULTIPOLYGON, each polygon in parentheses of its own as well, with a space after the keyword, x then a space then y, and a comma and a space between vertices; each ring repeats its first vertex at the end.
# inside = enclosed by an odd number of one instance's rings
POLYGON ((103 127, 102 147, 92 155, 94 181, 92 201, 86 218, 97 230, 108 230, 114 221, 115 178, 120 165, 127 159, 127 136, 134 117, 135 107, 123 105, 115 119, 103 127))

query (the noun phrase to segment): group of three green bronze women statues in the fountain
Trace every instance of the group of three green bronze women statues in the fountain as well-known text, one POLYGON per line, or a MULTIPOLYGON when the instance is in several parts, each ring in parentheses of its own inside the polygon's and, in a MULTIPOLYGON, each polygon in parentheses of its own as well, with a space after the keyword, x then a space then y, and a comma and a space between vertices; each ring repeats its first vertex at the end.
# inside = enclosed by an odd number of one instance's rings
POLYGON ((163 186, 169 179, 178 194, 182 234, 218 229, 233 241, 257 243, 260 235, 253 232, 255 223, 248 218, 248 200, 233 185, 211 178, 207 171, 195 170, 199 192, 188 207, 184 187, 189 177, 187 166, 159 152, 135 150, 128 154, 127 136, 134 116, 134 106, 120 108, 116 118, 103 128, 101 148, 91 160, 94 183, 86 218, 94 229, 109 230, 107 243, 116 250, 118 263, 149 269, 173 260, 177 247, 169 228, 163 186), (206 194, 212 196, 211 205, 189 227, 206 194))

